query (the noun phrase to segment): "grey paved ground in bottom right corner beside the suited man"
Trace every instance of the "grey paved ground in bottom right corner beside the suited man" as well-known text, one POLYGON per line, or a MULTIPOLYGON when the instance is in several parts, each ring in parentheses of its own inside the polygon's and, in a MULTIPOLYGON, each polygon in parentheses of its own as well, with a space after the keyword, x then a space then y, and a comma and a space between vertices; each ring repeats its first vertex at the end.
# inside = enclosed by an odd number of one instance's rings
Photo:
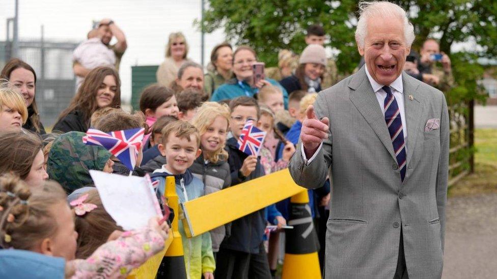
POLYGON ((442 277, 497 278, 497 193, 448 200, 442 277))

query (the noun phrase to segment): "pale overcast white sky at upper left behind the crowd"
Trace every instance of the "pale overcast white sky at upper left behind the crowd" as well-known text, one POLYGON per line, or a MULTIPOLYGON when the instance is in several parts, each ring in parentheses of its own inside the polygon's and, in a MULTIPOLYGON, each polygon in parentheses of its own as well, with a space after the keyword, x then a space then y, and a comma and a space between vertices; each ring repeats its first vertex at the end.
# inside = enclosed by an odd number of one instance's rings
MULTIPOLYGON (((14 0, 0 0, 0 41, 6 38, 6 19, 14 17, 14 0)), ((189 44, 188 56, 200 63, 201 33, 193 26, 201 17, 201 0, 19 0, 19 39, 79 43, 93 21, 111 18, 126 35, 128 49, 119 74, 123 102, 131 98, 131 66, 159 65, 171 32, 181 31, 189 44)), ((225 40, 222 30, 205 35, 205 64, 212 48, 225 40)), ((112 42, 111 42, 112 43, 112 42)), ((29 61, 28 61, 29 63, 29 61)))

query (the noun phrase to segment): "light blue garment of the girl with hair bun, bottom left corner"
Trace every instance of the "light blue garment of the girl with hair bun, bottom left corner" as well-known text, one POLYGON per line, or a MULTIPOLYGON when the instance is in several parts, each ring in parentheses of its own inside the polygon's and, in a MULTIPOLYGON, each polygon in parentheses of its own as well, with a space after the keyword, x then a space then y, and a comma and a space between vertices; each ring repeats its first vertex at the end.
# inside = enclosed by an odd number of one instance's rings
POLYGON ((44 279, 64 278, 66 260, 36 252, 0 250, 0 278, 44 279))

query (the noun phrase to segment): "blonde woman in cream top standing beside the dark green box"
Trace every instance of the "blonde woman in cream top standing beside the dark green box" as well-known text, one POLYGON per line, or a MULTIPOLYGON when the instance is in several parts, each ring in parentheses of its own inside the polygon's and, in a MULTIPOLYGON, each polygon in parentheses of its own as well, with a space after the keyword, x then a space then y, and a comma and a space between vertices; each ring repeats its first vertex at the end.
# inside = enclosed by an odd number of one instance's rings
POLYGON ((169 34, 168 45, 165 47, 165 59, 160 64, 157 73, 157 82, 164 86, 171 86, 176 80, 178 70, 186 61, 190 61, 188 55, 188 43, 181 32, 169 34))

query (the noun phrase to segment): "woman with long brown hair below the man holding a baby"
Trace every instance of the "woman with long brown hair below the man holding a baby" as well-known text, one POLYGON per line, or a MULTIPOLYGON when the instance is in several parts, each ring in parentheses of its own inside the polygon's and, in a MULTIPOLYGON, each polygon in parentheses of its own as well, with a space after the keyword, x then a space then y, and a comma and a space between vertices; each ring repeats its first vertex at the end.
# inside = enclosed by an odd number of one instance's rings
POLYGON ((116 70, 97 67, 88 73, 76 96, 60 115, 53 131, 86 132, 90 118, 99 108, 121 106, 121 80, 116 70))

